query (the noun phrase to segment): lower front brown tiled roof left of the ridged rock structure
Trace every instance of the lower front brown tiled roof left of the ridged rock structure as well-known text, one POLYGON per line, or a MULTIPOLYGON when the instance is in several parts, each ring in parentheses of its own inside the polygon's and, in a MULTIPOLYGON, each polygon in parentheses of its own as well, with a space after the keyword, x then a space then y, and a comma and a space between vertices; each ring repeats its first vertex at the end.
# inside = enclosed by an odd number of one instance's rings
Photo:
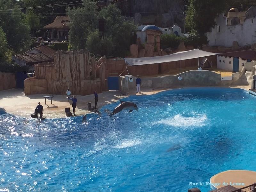
POLYGON ((27 63, 27 65, 33 65, 41 62, 50 62, 53 61, 53 57, 50 55, 47 55, 43 52, 39 53, 27 53, 27 54, 19 54, 19 55, 13 55, 13 57, 16 57, 19 60, 22 60, 27 63))

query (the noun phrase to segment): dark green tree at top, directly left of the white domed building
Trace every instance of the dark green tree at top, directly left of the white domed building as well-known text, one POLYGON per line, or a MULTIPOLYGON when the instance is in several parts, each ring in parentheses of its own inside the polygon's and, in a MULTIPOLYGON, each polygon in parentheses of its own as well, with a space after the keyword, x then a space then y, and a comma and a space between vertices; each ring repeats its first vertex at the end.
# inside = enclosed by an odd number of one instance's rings
POLYGON ((217 14, 224 12, 228 7, 227 0, 190 0, 186 12, 186 25, 199 35, 203 35, 216 25, 217 14))

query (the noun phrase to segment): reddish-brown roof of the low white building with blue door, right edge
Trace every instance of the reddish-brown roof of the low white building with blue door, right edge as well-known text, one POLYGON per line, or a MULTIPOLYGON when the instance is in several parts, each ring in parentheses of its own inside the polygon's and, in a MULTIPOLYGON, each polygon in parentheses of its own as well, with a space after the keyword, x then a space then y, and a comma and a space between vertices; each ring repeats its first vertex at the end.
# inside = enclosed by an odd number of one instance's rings
POLYGON ((219 55, 224 55, 228 57, 240 57, 242 59, 253 60, 256 59, 256 52, 253 49, 249 50, 230 50, 225 53, 220 53, 219 55))

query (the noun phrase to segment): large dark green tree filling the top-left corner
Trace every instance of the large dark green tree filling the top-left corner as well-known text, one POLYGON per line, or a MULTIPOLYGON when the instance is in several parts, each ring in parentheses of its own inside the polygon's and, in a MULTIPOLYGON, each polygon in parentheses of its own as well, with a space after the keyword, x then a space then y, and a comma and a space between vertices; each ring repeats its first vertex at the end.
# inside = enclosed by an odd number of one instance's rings
POLYGON ((30 28, 25 15, 12 0, 0 1, 0 26, 11 49, 21 50, 30 44, 30 28))

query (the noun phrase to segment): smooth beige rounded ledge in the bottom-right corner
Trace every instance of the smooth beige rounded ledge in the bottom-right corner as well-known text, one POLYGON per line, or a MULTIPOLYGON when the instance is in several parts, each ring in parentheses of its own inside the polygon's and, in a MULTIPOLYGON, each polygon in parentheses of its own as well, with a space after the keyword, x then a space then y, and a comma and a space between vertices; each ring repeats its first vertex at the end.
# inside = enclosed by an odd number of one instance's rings
POLYGON ((231 185, 236 188, 243 188, 253 184, 256 181, 255 178, 255 171, 228 170, 212 176, 210 182, 213 183, 214 187, 217 189, 227 185, 231 185))

